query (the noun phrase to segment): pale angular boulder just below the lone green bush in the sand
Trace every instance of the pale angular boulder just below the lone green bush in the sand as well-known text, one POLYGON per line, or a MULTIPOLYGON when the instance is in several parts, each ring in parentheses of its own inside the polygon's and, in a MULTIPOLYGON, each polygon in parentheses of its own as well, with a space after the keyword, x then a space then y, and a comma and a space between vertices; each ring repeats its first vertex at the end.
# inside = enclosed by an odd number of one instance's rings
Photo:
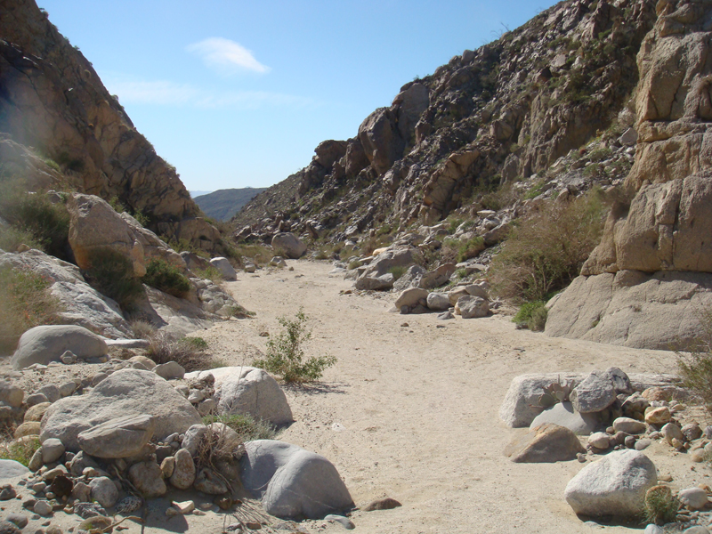
POLYGON ((292 410, 287 396, 263 369, 253 367, 225 367, 188 373, 186 378, 215 378, 214 399, 220 414, 243 414, 271 423, 291 423, 292 410))

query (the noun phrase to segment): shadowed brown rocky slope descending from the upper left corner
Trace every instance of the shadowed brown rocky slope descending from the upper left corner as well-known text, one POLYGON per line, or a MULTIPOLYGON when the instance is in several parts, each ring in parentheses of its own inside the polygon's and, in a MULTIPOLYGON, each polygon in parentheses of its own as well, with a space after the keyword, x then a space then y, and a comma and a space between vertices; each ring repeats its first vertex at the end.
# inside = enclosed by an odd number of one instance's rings
POLYGON ((0 133, 58 163, 77 189, 148 215, 160 234, 213 248, 219 232, 175 169, 47 13, 33 0, 0 0, 0 12, 0 133))

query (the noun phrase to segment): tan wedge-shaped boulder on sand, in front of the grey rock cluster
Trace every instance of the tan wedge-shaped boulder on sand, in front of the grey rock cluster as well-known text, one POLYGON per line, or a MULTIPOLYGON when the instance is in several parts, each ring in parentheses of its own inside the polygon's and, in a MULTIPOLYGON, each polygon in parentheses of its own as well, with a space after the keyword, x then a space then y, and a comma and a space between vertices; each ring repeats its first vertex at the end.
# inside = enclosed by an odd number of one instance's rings
POLYGON ((505 456, 515 463, 565 462, 585 452, 575 433, 552 423, 532 428, 505 448, 505 456))

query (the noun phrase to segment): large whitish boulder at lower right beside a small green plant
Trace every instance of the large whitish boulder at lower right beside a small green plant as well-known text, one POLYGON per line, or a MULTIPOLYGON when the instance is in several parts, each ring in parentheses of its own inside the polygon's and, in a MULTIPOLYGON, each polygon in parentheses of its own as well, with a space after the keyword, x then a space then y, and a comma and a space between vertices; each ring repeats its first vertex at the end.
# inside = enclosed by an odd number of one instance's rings
POLYGON ((616 450, 581 469, 563 496, 576 514, 633 519, 643 512, 645 492, 657 481, 650 458, 637 450, 616 450))

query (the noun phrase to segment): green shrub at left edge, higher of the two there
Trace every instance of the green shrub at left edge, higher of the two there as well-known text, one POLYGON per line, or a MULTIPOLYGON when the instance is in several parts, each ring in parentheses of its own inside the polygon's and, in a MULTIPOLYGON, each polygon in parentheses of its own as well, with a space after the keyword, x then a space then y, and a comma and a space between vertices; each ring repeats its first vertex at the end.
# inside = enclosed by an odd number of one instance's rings
POLYGON ((18 183, 5 183, 0 189, 0 216, 32 236, 47 254, 69 259, 69 212, 64 203, 53 204, 44 193, 28 193, 18 183))

